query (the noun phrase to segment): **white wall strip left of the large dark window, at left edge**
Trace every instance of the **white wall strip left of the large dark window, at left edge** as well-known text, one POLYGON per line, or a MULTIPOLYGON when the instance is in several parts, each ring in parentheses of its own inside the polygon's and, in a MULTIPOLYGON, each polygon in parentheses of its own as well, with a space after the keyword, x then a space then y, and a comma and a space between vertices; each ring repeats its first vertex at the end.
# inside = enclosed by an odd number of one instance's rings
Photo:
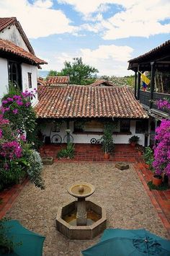
POLYGON ((8 88, 8 63, 6 58, 0 58, 0 101, 8 88))

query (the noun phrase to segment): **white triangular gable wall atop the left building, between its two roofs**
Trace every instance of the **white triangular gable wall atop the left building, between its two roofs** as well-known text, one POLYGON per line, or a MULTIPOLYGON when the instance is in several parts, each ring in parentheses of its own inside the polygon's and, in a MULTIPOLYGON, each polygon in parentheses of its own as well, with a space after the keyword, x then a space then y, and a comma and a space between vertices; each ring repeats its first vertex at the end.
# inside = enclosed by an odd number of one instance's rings
POLYGON ((27 45, 25 45, 24 40, 22 39, 22 36, 19 34, 19 31, 15 25, 8 26, 6 29, 0 32, 0 38, 9 40, 15 45, 18 45, 29 52, 27 45))

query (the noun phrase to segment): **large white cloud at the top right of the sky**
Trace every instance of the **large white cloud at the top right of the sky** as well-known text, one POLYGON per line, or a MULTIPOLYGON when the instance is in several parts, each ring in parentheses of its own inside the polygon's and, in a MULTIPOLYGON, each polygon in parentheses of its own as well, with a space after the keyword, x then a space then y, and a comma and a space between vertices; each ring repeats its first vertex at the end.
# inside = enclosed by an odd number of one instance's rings
POLYGON ((84 16, 86 21, 89 21, 81 26, 82 30, 89 30, 96 33, 102 32, 105 40, 115 40, 132 36, 149 37, 151 35, 170 32, 170 24, 161 24, 161 21, 170 18, 169 0, 58 1, 60 3, 71 4, 77 12, 80 12, 84 16), (103 19, 101 13, 110 7, 109 4, 121 6, 120 12, 117 12, 108 19, 103 19))

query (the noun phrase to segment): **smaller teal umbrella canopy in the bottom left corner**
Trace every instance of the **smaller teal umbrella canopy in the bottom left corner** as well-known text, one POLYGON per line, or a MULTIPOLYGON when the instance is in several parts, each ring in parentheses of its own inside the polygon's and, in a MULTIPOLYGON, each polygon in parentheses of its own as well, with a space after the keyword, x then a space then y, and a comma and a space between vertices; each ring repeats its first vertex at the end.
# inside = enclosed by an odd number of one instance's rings
POLYGON ((10 254, 19 256, 41 256, 42 247, 45 237, 25 229, 19 221, 10 220, 4 222, 6 228, 6 236, 12 239, 14 243, 22 244, 14 247, 14 252, 10 254))

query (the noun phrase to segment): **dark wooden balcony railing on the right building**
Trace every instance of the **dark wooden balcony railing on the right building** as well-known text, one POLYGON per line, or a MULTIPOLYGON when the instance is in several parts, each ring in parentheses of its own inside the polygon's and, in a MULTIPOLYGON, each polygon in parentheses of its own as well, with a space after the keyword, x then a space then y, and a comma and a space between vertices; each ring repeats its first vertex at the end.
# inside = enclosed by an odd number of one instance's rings
MULTIPOLYGON (((165 99, 170 101, 170 94, 153 92, 152 109, 158 110, 158 107, 154 103, 154 102, 156 102, 156 100, 165 100, 165 99)), ((150 102, 151 102, 151 92, 148 92, 148 91, 143 92, 142 90, 140 90, 140 103, 149 107, 150 102)), ((161 109, 161 112, 165 112, 165 113, 169 114, 169 110, 161 109)))

